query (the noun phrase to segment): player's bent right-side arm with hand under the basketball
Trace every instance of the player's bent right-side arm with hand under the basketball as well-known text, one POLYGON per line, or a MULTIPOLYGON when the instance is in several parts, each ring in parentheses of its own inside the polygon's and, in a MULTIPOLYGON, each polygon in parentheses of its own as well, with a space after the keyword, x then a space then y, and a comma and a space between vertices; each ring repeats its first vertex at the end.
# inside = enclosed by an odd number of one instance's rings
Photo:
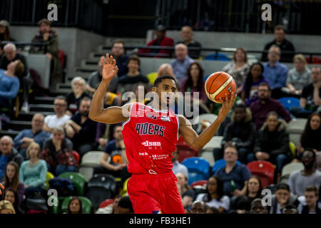
POLYGON ((201 150, 206 143, 210 141, 211 138, 218 130, 220 123, 223 122, 228 112, 233 107, 235 103, 236 95, 232 93, 230 100, 228 100, 228 95, 225 94, 225 102, 221 99, 222 108, 220 108, 220 112, 218 113, 218 118, 210 124, 208 128, 205 128, 203 133, 198 135, 195 130, 192 128, 190 121, 183 117, 183 115, 179 115, 180 118, 180 135, 183 136, 184 140, 188 145, 193 147, 195 150, 201 150))

